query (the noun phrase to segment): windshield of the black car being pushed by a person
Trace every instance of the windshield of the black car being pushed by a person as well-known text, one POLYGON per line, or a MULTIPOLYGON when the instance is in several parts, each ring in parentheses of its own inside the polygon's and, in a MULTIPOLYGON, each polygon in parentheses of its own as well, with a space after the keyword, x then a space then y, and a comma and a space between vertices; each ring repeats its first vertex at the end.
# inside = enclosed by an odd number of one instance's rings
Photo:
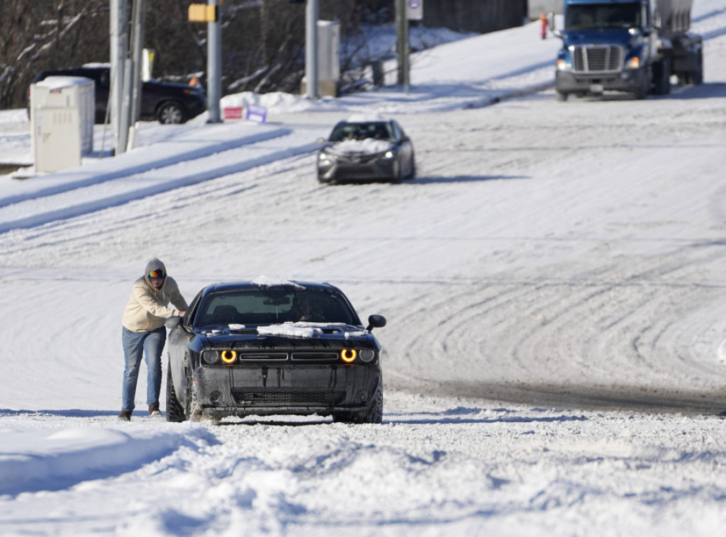
POLYGON ((208 295, 199 308, 194 326, 283 322, 360 324, 356 313, 337 292, 270 287, 208 295))

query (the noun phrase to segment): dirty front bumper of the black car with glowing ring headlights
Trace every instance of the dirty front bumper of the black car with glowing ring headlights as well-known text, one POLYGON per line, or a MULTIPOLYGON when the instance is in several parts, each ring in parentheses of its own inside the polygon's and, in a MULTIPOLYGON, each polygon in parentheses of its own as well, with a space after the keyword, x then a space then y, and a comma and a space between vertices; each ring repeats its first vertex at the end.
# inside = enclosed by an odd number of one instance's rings
POLYGON ((370 408, 381 382, 376 365, 202 366, 195 372, 201 417, 319 414, 370 408))

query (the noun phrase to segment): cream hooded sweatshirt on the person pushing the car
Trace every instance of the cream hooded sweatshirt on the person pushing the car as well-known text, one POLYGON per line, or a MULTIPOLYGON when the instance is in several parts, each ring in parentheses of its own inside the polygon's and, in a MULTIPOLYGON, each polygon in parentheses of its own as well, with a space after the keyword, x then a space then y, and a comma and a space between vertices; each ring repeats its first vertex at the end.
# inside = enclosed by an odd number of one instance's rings
POLYGON ((163 327, 166 319, 189 308, 171 276, 167 275, 158 289, 152 285, 149 273, 158 270, 166 273, 164 263, 154 258, 147 263, 144 276, 131 287, 131 298, 123 309, 123 326, 131 332, 150 332, 163 327), (176 309, 168 307, 170 302, 176 309))

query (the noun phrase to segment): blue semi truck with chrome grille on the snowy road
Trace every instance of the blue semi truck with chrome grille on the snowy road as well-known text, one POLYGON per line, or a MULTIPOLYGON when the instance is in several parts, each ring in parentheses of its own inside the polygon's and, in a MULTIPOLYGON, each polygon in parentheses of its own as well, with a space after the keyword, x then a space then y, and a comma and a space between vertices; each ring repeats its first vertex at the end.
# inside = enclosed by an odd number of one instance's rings
POLYGON ((555 69, 560 101, 624 91, 636 99, 703 82, 703 40, 690 33, 693 0, 564 0, 555 69))

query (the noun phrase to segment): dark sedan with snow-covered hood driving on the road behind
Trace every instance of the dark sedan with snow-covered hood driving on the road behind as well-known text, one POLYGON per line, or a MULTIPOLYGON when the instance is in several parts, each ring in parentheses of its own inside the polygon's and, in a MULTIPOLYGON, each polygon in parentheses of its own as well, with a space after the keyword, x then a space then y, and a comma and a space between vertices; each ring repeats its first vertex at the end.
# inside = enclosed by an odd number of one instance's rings
POLYGON ((321 183, 401 181, 416 175, 413 144, 395 120, 351 118, 340 121, 317 158, 321 183))

